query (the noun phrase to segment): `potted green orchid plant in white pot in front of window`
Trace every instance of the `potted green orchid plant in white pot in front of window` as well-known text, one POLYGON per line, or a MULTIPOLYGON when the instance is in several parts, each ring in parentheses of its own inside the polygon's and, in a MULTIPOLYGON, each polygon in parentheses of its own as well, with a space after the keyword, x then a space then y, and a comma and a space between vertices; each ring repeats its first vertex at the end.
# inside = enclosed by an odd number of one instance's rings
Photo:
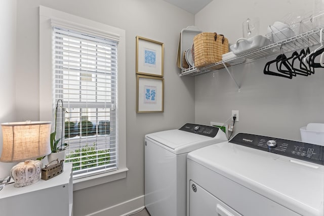
POLYGON ((51 154, 49 154, 47 156, 49 163, 56 159, 58 159, 59 161, 65 160, 65 149, 67 148, 68 145, 66 143, 63 144, 63 129, 64 129, 64 127, 63 127, 63 120, 64 120, 63 112, 64 111, 66 112, 65 108, 63 107, 63 101, 61 99, 59 99, 56 103, 56 108, 55 108, 54 132, 52 132, 50 135, 51 154), (60 106, 62 108, 62 133, 61 133, 61 137, 59 139, 56 139, 57 109, 59 107, 60 102, 62 103, 62 106, 60 106))

